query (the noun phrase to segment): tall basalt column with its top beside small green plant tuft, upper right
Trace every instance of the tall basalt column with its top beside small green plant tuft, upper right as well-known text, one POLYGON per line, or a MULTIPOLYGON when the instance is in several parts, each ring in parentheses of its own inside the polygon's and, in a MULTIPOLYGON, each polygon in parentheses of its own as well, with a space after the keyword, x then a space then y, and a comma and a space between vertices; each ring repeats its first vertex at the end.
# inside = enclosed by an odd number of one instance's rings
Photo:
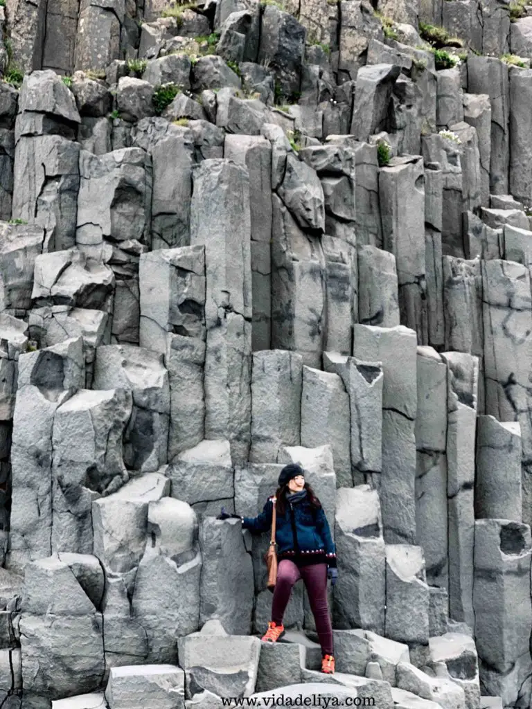
POLYGON ((421 157, 390 160, 379 172, 384 249, 395 256, 401 323, 428 342, 425 282, 425 191, 421 157))

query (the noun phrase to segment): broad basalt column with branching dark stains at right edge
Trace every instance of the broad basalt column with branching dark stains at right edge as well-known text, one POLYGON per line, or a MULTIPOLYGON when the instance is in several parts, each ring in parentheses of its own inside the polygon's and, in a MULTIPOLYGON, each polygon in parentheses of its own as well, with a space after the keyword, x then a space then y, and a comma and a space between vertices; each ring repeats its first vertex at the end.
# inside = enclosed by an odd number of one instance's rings
POLYGON ((482 262, 486 413, 517 420, 523 447, 523 522, 532 521, 532 423, 528 358, 532 338, 530 272, 514 262, 482 262))

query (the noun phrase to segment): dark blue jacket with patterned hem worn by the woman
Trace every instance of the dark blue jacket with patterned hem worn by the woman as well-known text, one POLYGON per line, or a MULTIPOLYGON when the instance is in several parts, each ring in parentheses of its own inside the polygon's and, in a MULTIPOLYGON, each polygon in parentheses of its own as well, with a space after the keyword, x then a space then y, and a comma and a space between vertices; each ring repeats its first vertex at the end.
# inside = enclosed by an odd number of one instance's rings
MULTIPOLYGON (((272 526, 272 497, 257 517, 244 517, 242 528, 255 534, 266 532, 272 526)), ((284 515, 277 513, 275 541, 277 558, 304 559, 304 563, 326 562, 336 568, 336 550, 323 507, 314 510, 304 499, 293 505, 287 501, 284 515)))

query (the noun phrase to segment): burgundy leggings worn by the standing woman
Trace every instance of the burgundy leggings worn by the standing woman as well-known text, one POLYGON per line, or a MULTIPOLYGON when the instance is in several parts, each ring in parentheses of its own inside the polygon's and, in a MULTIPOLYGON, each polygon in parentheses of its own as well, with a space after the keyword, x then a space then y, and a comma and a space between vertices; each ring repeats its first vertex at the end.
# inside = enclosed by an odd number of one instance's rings
POLYGON ((289 559, 282 559, 277 566, 277 582, 273 592, 272 620, 282 623, 292 586, 303 579, 306 591, 309 593, 309 603, 316 620, 316 631, 323 654, 333 654, 333 627, 327 605, 327 564, 309 564, 299 569, 289 559))

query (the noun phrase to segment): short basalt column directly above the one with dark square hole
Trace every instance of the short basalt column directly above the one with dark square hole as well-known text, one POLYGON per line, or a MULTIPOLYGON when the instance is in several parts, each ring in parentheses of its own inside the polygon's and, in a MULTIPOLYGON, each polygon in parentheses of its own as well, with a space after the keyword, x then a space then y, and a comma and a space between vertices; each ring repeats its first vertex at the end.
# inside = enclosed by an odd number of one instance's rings
POLYGON ((475 517, 521 522, 521 427, 494 416, 477 418, 475 517))

